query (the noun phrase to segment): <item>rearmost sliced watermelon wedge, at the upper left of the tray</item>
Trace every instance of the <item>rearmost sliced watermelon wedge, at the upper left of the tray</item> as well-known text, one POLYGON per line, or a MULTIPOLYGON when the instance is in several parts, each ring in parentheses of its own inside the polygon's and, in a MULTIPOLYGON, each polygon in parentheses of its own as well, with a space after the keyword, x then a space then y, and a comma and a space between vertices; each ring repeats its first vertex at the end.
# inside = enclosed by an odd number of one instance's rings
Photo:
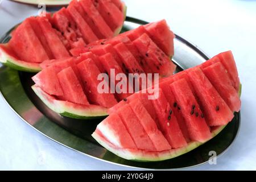
POLYGON ((63 59, 70 56, 71 49, 118 35, 126 16, 125 3, 119 0, 100 1, 100 6, 94 3, 73 0, 67 8, 47 13, 46 17, 27 18, 11 32, 9 43, 1 44, 9 47, 9 51, 1 48, 1 63, 19 71, 39 72, 39 63, 45 60, 63 59))

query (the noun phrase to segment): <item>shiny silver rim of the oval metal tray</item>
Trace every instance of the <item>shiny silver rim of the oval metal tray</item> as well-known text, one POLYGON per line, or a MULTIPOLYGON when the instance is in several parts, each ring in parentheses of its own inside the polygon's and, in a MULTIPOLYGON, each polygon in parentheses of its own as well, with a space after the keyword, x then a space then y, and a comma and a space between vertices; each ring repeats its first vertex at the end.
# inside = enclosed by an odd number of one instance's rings
MULTIPOLYGON (((146 21, 144 21, 144 20, 140 20, 140 19, 137 19, 137 18, 132 18, 132 17, 130 17, 130 16, 126 16, 126 20, 125 20, 125 21, 131 22, 131 23, 137 23, 137 24, 147 24, 147 23, 148 23, 148 22, 146 22, 146 21)), ((3 34, 3 35, 1 36, 1 38, 0 38, 0 43, 4 40, 4 38, 6 37, 6 35, 9 35, 10 32, 14 30, 15 27, 16 27, 16 25, 15 25, 13 28, 10 28, 9 31, 7 31, 5 34, 3 34)), ((175 34, 175 39, 178 39, 178 40, 180 40, 181 42, 185 43, 188 47, 192 48, 194 51, 196 51, 197 53, 199 53, 199 55, 202 56, 205 60, 210 59, 210 57, 209 57, 203 50, 201 50, 199 47, 197 47, 195 44, 189 42, 188 40, 182 38, 181 36, 179 36, 179 35, 177 35, 177 34, 175 34)), ((0 63, 0 64, 2 64, 2 63, 0 63)), ((18 71, 17 71, 17 73, 18 73, 18 71)), ((2 90, 1 90, 1 89, 0 89, 0 96, 1 96, 1 97, 3 98, 3 100, 6 102, 7 106, 9 106, 10 109, 11 109, 16 115, 18 115, 18 117, 19 117, 20 119, 22 119, 23 122, 27 123, 27 125, 31 126, 34 130, 38 131, 40 134, 43 134, 43 135, 44 135, 45 137, 47 137, 48 139, 51 139, 51 140, 53 140, 54 142, 61 144, 62 146, 65 146, 65 147, 67 147, 67 148, 69 148, 69 149, 71 149, 71 150, 73 150, 73 151, 79 152, 79 153, 81 153, 82 155, 86 155, 86 156, 88 156, 89 158, 93 158, 93 159, 96 159, 96 160, 100 160, 101 162, 110 163, 110 164, 114 164, 114 165, 122 166, 122 167, 127 167, 127 168, 144 169, 144 170, 152 170, 152 171, 153 171, 153 170, 155 170, 155 171, 168 171, 168 170, 177 170, 177 169, 179 169, 179 170, 181 170, 181 169, 189 169, 189 168, 193 168, 193 167, 202 166, 203 164, 208 163, 208 161, 205 161, 205 162, 203 162, 203 163, 195 164, 195 165, 193 165, 193 166, 180 167, 180 168, 159 169, 159 168, 143 168, 143 167, 129 166, 129 165, 127 165, 127 164, 120 164, 120 163, 112 162, 112 161, 110 161, 110 160, 105 160, 105 159, 97 158, 96 156, 92 156, 92 155, 86 154, 86 153, 84 153, 84 152, 81 152, 81 151, 79 151, 79 150, 76 150, 75 148, 69 147, 69 146, 67 146, 66 144, 63 144, 63 143, 59 142, 58 140, 53 139, 53 138, 49 137, 48 135, 44 134, 42 131, 36 129, 36 127, 34 127, 34 126, 32 126, 30 123, 28 123, 28 122, 26 121, 26 119, 22 118, 22 116, 21 116, 17 111, 14 110, 14 108, 13 108, 13 107, 9 104, 9 102, 6 100, 5 96, 3 96, 3 93, 2 93, 2 90)), ((28 99, 29 99, 29 98, 28 98, 28 99)), ((32 103, 32 104, 34 105, 34 103, 32 103)), ((35 106, 35 105, 34 105, 34 106, 35 106)), ((36 106, 35 106, 35 107, 36 107, 36 106)), ((43 114, 43 113, 42 113, 42 114, 43 114)), ((232 143, 230 143, 229 146, 228 146, 227 148, 225 148, 224 151, 222 151, 220 154, 218 154, 218 155, 216 156, 216 159, 218 159, 218 158, 220 158, 220 156, 224 155, 224 154, 226 153, 226 151, 228 151, 229 148, 233 146, 234 142, 236 142, 236 139, 237 139, 237 137, 238 137, 238 135, 239 135, 239 133, 240 133, 240 126, 241 126, 241 110, 237 113, 237 121, 238 121, 238 122, 237 122, 237 123, 238 123, 238 126, 237 126, 237 127, 238 127, 238 128, 237 128, 237 133, 236 133, 236 135, 234 136, 232 143)), ((59 126, 59 127, 61 127, 61 126, 59 126)), ((63 129, 63 128, 62 128, 62 129, 63 129)), ((63 129, 63 130, 65 130, 65 129, 63 129)), ((66 130, 66 131, 67 131, 67 130, 66 130)), ((72 134, 72 135, 73 135, 73 134, 72 134)))

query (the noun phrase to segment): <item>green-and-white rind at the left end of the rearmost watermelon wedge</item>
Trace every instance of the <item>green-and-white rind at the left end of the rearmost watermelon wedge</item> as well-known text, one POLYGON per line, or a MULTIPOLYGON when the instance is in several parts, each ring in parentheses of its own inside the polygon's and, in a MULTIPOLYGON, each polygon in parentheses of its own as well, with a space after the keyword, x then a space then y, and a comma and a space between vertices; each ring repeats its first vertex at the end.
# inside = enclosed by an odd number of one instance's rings
POLYGON ((29 63, 26 61, 21 61, 15 57, 9 55, 5 50, 0 47, 0 63, 6 65, 7 67, 16 69, 18 71, 37 73, 41 71, 38 63, 29 63))

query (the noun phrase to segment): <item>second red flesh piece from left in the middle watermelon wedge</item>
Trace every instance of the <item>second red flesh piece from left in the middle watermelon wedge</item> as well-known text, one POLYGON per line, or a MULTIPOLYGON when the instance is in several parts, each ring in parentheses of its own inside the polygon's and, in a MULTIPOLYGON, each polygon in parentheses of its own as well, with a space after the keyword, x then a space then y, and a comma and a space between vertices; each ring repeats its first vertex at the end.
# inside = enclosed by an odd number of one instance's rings
POLYGON ((65 68, 63 71, 57 73, 57 77, 59 78, 65 101, 89 105, 82 86, 71 67, 65 68))

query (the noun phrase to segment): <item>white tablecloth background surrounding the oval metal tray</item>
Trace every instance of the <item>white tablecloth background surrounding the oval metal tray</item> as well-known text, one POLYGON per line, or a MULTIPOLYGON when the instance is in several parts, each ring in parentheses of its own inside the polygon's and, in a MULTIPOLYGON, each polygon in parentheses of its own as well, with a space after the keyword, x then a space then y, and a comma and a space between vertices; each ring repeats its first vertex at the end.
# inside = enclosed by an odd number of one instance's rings
MULTIPOLYGON (((127 15, 148 22, 166 19, 171 29, 209 56, 231 49, 243 85, 241 129, 232 148, 193 170, 256 169, 256 1, 129 0, 127 15)), ((0 35, 38 9, 3 0, 0 35)), ((22 122, 0 98, 0 169, 129 169, 79 154, 22 122)))

